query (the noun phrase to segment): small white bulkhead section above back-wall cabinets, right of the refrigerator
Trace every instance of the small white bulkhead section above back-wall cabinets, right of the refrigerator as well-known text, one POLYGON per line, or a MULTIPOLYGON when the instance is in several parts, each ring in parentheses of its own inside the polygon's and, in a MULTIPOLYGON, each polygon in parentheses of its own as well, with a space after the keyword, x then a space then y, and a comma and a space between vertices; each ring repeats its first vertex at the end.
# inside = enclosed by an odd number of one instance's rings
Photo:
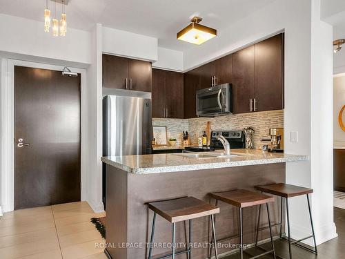
POLYGON ((162 68, 177 72, 184 71, 184 53, 168 48, 158 48, 158 61, 152 63, 152 68, 162 68))

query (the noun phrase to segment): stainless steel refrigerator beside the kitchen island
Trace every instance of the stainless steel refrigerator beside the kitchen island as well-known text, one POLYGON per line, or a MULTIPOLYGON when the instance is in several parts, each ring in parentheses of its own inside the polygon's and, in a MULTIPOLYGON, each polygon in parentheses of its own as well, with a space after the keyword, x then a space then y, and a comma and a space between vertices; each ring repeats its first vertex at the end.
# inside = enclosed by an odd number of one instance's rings
MULTIPOLYGON (((152 139, 150 93, 129 90, 111 90, 110 93, 112 95, 103 97, 103 156, 150 153, 152 139)), ((103 164, 104 207, 105 198, 106 166, 103 164)))

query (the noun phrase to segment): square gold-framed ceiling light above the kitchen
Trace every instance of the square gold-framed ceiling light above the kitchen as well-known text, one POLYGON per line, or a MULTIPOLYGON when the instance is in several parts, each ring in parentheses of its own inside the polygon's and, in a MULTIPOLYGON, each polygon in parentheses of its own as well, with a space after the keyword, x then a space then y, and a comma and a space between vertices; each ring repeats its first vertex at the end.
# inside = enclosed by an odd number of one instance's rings
POLYGON ((217 36, 217 30, 199 24, 200 17, 193 17, 190 25, 177 32, 177 39, 187 41, 192 44, 203 44, 205 41, 217 36))

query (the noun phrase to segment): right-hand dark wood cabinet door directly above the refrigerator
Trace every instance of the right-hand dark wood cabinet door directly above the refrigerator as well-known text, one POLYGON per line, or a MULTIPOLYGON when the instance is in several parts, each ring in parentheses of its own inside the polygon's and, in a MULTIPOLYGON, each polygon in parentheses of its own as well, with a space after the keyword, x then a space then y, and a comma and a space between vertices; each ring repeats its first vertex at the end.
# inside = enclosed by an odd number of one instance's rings
POLYGON ((150 92, 152 90, 151 62, 129 59, 130 90, 150 92))

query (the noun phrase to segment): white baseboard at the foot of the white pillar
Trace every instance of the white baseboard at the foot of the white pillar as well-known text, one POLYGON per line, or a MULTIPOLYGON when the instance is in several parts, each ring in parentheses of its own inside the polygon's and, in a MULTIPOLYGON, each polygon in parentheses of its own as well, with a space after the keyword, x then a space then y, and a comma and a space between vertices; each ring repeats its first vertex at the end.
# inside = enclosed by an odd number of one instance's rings
MULTIPOLYGON (((306 236, 311 236, 311 227, 301 227, 294 224, 291 224, 291 238, 294 240, 299 240, 301 238, 305 238, 306 236)), ((331 224, 328 224, 326 226, 323 226, 319 229, 314 229, 315 235, 316 235, 316 244, 322 244, 324 242, 327 242, 328 240, 331 240, 333 238, 337 238, 337 229, 335 227, 334 222, 331 224)), ((313 238, 308 238, 307 240, 302 241, 302 243, 307 244, 311 247, 314 246, 313 238)))

